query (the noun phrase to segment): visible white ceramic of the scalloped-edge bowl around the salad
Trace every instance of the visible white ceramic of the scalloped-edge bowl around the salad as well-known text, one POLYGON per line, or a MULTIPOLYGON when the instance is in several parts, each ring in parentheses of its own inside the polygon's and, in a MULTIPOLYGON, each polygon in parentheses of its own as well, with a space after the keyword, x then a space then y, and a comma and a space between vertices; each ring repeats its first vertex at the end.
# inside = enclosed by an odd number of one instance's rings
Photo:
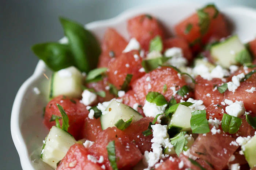
MULTIPOLYGON (((113 19, 95 21, 87 24, 85 27, 92 31, 99 40, 102 40, 104 32, 108 27, 117 29, 119 33, 128 39, 126 29, 127 19, 140 13, 148 13, 157 17, 166 28, 173 31, 172 28, 176 23, 202 6, 202 4, 195 3, 172 3, 133 8, 113 19)), ((227 19, 233 23, 233 32, 237 33, 243 42, 254 38, 256 35, 255 10, 245 7, 220 9, 226 15, 227 19)), ((12 139, 19 153, 22 168, 26 170, 51 169, 39 159, 42 140, 48 134, 48 129, 42 123, 42 112, 43 107, 47 104, 46 96, 48 94, 49 83, 45 75, 49 77, 51 71, 40 60, 35 68, 34 74, 20 87, 12 107, 12 139), (36 94, 34 87, 37 87, 41 91, 41 94, 36 94)))

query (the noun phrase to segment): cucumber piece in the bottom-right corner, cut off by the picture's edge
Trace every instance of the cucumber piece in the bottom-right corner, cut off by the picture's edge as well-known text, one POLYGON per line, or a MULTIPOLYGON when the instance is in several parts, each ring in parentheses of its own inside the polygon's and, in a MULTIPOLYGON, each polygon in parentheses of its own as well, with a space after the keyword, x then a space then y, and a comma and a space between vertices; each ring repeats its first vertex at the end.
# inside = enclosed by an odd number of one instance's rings
POLYGON ((242 146, 242 151, 251 169, 256 167, 256 135, 242 146))

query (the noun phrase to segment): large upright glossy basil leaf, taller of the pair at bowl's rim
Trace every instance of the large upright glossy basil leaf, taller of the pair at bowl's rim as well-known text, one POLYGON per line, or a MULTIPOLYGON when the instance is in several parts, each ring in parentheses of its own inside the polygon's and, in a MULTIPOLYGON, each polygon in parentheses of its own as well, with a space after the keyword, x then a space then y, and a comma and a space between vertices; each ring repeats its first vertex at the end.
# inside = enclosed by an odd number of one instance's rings
POLYGON ((94 35, 74 21, 60 17, 60 22, 74 55, 75 66, 86 73, 97 67, 101 47, 94 35))

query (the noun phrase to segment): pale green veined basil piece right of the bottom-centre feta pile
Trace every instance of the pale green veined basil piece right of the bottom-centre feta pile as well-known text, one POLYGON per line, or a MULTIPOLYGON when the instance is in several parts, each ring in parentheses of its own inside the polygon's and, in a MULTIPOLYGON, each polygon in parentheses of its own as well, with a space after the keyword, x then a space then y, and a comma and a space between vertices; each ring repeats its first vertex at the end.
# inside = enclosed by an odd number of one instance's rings
POLYGON ((185 134, 186 134, 186 132, 182 131, 182 132, 178 133, 177 135, 175 135, 173 138, 170 138, 170 141, 171 141, 171 143, 174 147, 174 150, 178 156, 180 156, 180 153, 184 149, 184 146, 186 146, 188 143, 188 141, 184 137, 185 134))

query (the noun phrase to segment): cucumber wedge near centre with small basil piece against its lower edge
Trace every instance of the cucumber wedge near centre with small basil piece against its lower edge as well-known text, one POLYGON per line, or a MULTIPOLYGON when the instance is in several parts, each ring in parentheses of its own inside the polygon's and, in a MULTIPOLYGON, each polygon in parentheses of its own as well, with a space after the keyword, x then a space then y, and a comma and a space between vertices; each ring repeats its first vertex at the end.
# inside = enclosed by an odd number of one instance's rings
POLYGON ((126 122, 132 116, 132 122, 137 122, 143 118, 143 116, 133 108, 113 100, 106 108, 105 114, 101 115, 102 130, 107 129, 108 127, 113 127, 115 123, 120 119, 123 119, 124 122, 126 122))

